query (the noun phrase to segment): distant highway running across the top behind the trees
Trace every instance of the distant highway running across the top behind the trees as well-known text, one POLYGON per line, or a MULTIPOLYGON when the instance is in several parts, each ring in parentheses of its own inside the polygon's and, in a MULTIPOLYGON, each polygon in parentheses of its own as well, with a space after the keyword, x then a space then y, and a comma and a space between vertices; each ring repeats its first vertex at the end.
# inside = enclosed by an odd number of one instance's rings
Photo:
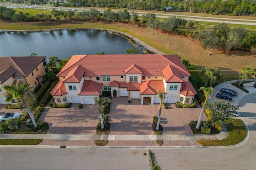
MULTIPOLYGON (((4 6, 4 4, 1 4, 1 6, 4 6)), ((18 8, 17 5, 12 5, 12 4, 5 4, 6 7, 8 8, 18 8)), ((41 6, 41 5, 32 5, 32 6, 27 6, 24 5, 22 6, 19 4, 19 8, 34 8, 34 9, 43 9, 46 8, 46 10, 52 10, 52 9, 61 9, 61 10, 72 10, 74 8, 68 8, 68 7, 49 7, 49 6, 41 6)), ((78 12, 82 12, 83 10, 90 10, 89 8, 75 8, 78 10, 78 12)), ((97 9, 100 12, 104 12, 104 10, 97 9)), ((112 10, 112 12, 118 12, 119 10, 112 10)), ((132 13, 132 10, 130 11, 132 13)), ((146 15, 149 12, 137 12, 139 16, 146 15)), ((156 13, 156 17, 158 18, 168 18, 172 16, 178 16, 180 18, 189 20, 189 16, 186 15, 176 15, 176 14, 170 14, 170 13, 156 13)), ((233 18, 218 18, 218 17, 203 17, 203 16, 193 16, 193 14, 190 16, 190 20, 192 21, 201 21, 201 22, 214 22, 214 23, 222 23, 225 22, 227 24, 238 24, 238 25, 252 25, 256 26, 256 21, 255 20, 244 20, 244 19, 233 19, 233 18)))

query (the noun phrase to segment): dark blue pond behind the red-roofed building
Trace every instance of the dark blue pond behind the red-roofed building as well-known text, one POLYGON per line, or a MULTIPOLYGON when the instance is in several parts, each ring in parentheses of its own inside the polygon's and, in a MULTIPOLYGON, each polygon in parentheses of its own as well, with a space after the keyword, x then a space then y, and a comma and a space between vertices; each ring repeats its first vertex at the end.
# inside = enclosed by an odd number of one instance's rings
POLYGON ((52 30, 43 32, 1 32, 0 56, 56 56, 67 59, 72 55, 126 54, 137 45, 140 54, 145 47, 130 38, 104 30, 52 30))

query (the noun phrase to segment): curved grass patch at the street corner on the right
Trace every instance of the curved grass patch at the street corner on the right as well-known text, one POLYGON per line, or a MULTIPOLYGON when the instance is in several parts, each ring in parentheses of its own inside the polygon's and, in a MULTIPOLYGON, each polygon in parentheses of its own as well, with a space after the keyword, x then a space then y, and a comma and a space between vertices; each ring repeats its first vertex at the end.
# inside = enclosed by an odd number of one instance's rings
POLYGON ((226 146, 242 142, 246 136, 246 128, 240 119, 229 119, 228 136, 222 140, 196 140, 204 146, 226 146))

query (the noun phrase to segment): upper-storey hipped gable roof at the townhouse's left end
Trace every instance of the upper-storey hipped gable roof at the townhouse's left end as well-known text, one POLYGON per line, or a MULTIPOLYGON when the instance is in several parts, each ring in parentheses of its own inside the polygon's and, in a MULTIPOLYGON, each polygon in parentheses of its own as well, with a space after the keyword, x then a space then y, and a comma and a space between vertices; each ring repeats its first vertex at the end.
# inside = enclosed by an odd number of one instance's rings
POLYGON ((78 65, 68 73, 63 83, 79 83, 82 77, 84 76, 84 74, 85 74, 84 67, 82 65, 78 65))

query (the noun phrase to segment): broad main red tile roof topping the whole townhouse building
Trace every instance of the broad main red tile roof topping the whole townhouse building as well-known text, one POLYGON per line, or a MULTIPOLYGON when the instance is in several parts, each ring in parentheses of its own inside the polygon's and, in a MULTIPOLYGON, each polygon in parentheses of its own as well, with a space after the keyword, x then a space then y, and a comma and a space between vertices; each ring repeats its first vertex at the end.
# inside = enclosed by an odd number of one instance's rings
POLYGON ((131 72, 137 70, 136 73, 142 72, 145 76, 162 76, 168 64, 176 68, 180 76, 190 76, 178 55, 158 54, 73 55, 57 76, 67 76, 78 65, 85 68, 87 76, 124 75, 131 65, 134 65, 131 72))

